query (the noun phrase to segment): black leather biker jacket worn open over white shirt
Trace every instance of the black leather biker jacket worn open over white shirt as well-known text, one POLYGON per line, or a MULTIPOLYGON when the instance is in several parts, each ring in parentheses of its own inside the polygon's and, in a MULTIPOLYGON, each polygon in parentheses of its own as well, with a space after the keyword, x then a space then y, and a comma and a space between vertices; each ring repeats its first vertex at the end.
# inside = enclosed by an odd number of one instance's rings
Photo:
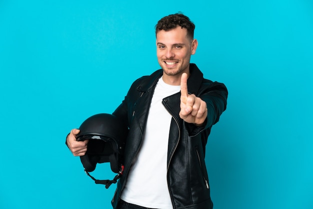
MULTIPOLYGON (((117 182, 112 199, 116 208, 120 193, 127 182, 129 167, 142 143, 148 109, 155 84, 162 69, 133 82, 125 99, 113 112, 124 118, 129 127, 124 150, 124 172, 117 182)), ((162 99, 172 115, 167 153, 167 184, 173 208, 212 208, 210 188, 204 162, 205 144, 211 126, 226 108, 227 89, 224 84, 204 79, 195 64, 190 64, 188 92, 206 102, 207 118, 202 127, 184 122, 180 111, 180 92, 162 99)), ((157 128, 157 127, 155 127, 157 128)), ((147 185, 148 186, 148 185, 147 185)))

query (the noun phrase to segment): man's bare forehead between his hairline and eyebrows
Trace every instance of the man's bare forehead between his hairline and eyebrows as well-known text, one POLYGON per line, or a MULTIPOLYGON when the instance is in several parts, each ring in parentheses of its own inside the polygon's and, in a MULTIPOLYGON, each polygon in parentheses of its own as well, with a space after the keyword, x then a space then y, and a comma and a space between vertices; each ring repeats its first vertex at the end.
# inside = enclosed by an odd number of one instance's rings
POLYGON ((185 43, 188 41, 187 38, 187 29, 181 28, 180 26, 175 27, 174 29, 170 30, 159 30, 156 33, 156 42, 161 43, 176 43, 182 42, 185 43))

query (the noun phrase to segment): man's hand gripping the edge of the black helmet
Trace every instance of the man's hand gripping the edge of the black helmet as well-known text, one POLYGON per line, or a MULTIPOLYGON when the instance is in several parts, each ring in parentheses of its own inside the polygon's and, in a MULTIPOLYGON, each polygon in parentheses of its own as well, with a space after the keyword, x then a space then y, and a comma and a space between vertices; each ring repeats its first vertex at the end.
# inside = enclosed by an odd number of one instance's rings
POLYGON ((74 156, 83 156, 87 151, 88 140, 77 141, 76 135, 79 133, 79 129, 71 129, 70 133, 66 137, 66 142, 69 150, 74 156))

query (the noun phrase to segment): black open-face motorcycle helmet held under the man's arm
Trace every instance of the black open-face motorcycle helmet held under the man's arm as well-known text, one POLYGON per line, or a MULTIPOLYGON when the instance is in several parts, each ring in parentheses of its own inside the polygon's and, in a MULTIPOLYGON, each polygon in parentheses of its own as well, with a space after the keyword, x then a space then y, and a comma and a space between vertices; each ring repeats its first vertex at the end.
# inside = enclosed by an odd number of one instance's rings
POLYGON ((99 113, 88 117, 79 127, 77 141, 89 139, 85 155, 80 161, 95 183, 105 184, 106 188, 115 183, 123 171, 123 151, 128 128, 113 114, 99 113), (95 169, 96 163, 110 162, 111 170, 118 173, 113 180, 96 180, 89 172, 95 169))

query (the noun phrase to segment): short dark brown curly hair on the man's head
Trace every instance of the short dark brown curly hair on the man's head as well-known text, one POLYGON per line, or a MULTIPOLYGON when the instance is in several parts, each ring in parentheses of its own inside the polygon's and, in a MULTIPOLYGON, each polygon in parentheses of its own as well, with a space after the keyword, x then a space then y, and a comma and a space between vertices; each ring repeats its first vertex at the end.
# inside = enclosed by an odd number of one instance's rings
POLYGON ((168 16, 164 16, 158 20, 157 24, 155 25, 155 36, 159 30, 168 31, 176 28, 178 25, 181 26, 181 28, 187 29, 187 37, 192 40, 195 25, 189 19, 189 17, 183 15, 181 12, 169 14, 168 16))

